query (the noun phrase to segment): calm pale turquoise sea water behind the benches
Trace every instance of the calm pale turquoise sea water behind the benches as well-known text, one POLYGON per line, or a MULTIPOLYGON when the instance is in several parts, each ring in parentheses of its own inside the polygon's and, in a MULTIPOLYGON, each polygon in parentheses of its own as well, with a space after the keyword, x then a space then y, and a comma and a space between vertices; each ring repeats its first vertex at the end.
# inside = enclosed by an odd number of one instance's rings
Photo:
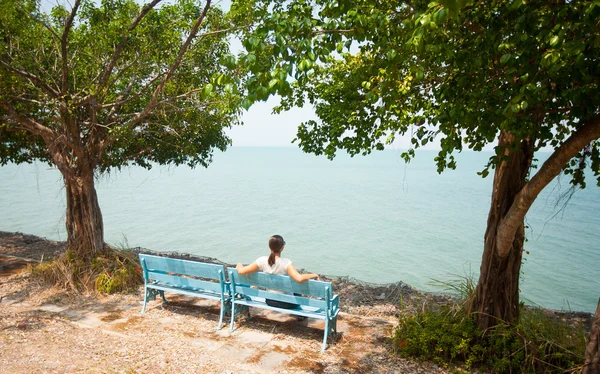
MULTIPOLYGON (((102 176, 97 189, 111 244, 248 263, 281 234, 297 267, 439 290, 432 279, 477 277, 492 178, 491 154, 465 152, 438 175, 434 151, 334 161, 295 148, 231 148, 208 169, 156 166, 102 176)), ((544 157, 543 155, 541 157, 544 157)), ((527 216, 521 276, 526 302, 592 312, 600 296, 600 189, 558 180, 527 216), (561 209, 562 208, 562 209, 561 209)), ((47 165, 0 168, 0 230, 65 240, 64 188, 47 165)))

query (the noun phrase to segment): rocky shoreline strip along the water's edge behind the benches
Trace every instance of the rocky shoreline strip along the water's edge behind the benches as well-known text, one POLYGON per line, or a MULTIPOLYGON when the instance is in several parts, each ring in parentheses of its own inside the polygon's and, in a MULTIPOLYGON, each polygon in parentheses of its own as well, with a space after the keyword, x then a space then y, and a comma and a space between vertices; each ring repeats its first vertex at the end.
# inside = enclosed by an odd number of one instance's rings
MULTIPOLYGON (((20 232, 0 231, 0 256, 14 256, 32 261, 44 261, 60 256, 66 249, 65 242, 48 240, 20 232)), ((137 253, 150 253, 187 260, 210 262, 232 266, 211 257, 195 256, 179 252, 157 252, 141 247, 133 248, 137 253)), ((0 269, 1 270, 1 269, 0 269)), ((321 275, 321 279, 332 282, 342 300, 343 309, 350 314, 362 316, 399 316, 412 314, 428 307, 452 303, 452 295, 424 292, 404 282, 373 284, 352 277, 321 275)), ((587 312, 546 310, 556 318, 581 323, 586 331, 591 329, 593 315, 587 312)))

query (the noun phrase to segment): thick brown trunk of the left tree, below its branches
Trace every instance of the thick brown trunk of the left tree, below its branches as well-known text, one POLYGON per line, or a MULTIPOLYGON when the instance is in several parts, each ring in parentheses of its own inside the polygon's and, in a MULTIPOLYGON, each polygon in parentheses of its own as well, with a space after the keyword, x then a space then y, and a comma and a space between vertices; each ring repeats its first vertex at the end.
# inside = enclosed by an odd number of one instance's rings
POLYGON ((65 177, 67 191, 67 248, 90 259, 104 251, 104 224, 94 187, 93 170, 65 177))

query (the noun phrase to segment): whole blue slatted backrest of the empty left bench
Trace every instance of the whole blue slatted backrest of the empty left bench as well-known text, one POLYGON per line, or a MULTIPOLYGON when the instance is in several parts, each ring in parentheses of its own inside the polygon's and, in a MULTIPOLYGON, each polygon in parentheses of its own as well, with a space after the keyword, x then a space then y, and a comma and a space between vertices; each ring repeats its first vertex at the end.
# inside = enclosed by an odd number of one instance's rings
POLYGON ((139 254, 144 281, 225 292, 225 267, 204 262, 139 254), (190 278, 190 276, 195 278, 190 278), (203 279, 198 279, 203 278, 203 279))

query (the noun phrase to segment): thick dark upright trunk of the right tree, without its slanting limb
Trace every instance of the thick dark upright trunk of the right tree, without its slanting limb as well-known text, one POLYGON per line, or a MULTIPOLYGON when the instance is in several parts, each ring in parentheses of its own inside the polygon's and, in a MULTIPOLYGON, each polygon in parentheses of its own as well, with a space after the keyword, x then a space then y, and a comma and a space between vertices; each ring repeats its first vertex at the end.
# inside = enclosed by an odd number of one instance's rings
MULTIPOLYGON (((502 132, 498 143, 502 147, 511 141, 512 136, 502 132)), ((496 241, 502 219, 527 183, 533 157, 532 142, 522 140, 519 149, 507 149, 504 155, 508 159, 496 167, 494 174, 479 282, 472 305, 472 312, 476 313, 478 325, 483 330, 497 325, 500 320, 513 322, 519 316, 519 275, 525 241, 523 221, 504 256, 497 251, 496 241)))

